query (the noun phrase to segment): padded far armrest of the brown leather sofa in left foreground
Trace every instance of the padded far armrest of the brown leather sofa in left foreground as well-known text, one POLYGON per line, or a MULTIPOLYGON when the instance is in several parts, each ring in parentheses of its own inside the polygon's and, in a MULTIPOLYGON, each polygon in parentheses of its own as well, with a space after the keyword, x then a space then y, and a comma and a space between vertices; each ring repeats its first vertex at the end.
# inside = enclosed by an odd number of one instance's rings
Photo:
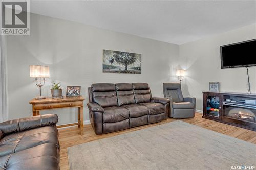
POLYGON ((56 126, 57 122, 58 116, 56 114, 45 114, 3 122, 0 124, 0 130, 3 135, 6 135, 43 126, 56 126))

